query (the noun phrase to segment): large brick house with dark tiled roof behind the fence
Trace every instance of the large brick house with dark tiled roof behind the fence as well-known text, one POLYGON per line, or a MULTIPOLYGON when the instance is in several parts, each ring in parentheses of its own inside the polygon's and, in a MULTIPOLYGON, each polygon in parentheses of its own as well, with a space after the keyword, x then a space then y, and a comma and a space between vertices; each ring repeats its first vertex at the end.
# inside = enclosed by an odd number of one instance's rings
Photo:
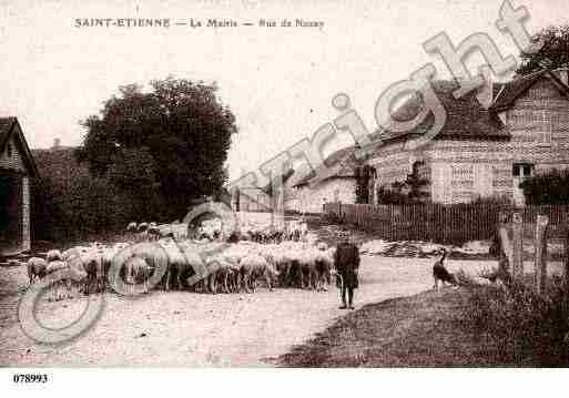
MULTIPOLYGON (((437 81, 433 86, 446 110, 445 125, 433 141, 415 151, 405 150, 404 143, 428 131, 433 118, 404 134, 384 131, 383 142, 367 153, 366 163, 376 171, 373 192, 404 181, 417 170, 429 181, 433 202, 507 196, 521 205, 519 184, 524 178, 569 167, 566 69, 495 83, 489 90, 486 86, 486 96, 474 91, 457 100, 453 96, 457 82, 437 81)), ((394 116, 413 118, 421 105, 420 99, 414 99, 394 116)))

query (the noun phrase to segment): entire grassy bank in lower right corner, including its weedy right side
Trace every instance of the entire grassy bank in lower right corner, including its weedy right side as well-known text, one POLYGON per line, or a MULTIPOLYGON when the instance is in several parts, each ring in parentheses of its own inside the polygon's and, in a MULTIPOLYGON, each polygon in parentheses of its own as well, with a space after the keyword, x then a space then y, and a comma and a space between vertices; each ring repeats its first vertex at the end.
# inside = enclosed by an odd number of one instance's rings
POLYGON ((567 345, 559 334, 556 339, 547 331, 557 322, 534 327, 532 333, 520 329, 550 313, 508 307, 498 290, 496 286, 444 288, 366 305, 280 357, 277 366, 567 366, 567 345), (504 309, 497 310, 500 305, 504 309))

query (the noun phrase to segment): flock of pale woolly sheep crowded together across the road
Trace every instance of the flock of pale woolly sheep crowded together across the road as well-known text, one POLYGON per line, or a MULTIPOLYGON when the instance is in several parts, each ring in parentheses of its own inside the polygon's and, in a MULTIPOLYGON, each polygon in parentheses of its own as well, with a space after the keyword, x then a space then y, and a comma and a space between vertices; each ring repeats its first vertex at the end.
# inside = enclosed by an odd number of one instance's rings
MULTIPOLYGON (((126 243, 92 243, 64 252, 52 249, 45 258, 28 262, 30 285, 64 271, 68 277, 55 283, 49 299, 123 286, 187 289, 203 293, 254 292, 260 283, 274 286, 325 290, 334 271, 334 248, 308 234, 306 224, 293 222, 286 232, 244 224, 238 236, 226 235, 217 221, 205 221, 194 238, 187 224, 129 224, 134 233, 126 243), (270 231, 265 233, 265 231, 270 231), (111 275, 119 269, 119 274, 111 275), (113 272, 111 272, 113 271, 113 272), (149 280, 153 275, 154 285, 149 280)), ((124 293, 124 292, 119 292, 124 293)))

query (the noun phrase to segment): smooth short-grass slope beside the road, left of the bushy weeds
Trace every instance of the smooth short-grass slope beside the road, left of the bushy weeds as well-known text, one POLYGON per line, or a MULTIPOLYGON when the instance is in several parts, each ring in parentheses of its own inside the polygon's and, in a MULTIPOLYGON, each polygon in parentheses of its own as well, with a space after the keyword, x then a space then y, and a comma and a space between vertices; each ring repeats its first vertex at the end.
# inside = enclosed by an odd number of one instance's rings
MULTIPOLYGON (((464 327, 465 290, 445 288, 369 304, 280 358, 285 367, 499 365, 489 339, 464 327)), ((506 364, 505 364, 506 365, 506 364)))

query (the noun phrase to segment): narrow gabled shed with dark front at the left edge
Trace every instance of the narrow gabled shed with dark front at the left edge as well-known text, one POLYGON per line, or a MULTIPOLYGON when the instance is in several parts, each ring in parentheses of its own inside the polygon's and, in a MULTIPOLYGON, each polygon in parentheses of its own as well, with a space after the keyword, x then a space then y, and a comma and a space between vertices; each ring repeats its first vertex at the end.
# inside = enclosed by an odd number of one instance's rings
POLYGON ((0 118, 0 256, 30 249, 30 183, 38 167, 16 118, 0 118))

